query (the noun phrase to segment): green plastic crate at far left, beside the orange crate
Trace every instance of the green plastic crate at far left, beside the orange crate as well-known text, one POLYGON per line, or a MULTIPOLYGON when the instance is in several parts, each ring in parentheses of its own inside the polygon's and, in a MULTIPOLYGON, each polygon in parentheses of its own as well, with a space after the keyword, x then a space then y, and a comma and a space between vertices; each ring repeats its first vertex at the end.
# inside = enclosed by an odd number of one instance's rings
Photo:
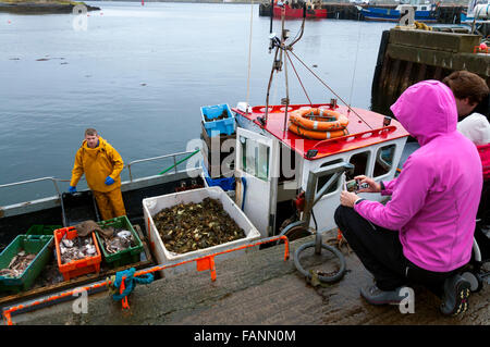
POLYGON ((17 235, 14 240, 0 253, 0 269, 5 269, 22 249, 27 253, 37 253, 33 262, 19 277, 0 276, 0 292, 28 290, 51 259, 49 246, 53 236, 49 235, 17 235))

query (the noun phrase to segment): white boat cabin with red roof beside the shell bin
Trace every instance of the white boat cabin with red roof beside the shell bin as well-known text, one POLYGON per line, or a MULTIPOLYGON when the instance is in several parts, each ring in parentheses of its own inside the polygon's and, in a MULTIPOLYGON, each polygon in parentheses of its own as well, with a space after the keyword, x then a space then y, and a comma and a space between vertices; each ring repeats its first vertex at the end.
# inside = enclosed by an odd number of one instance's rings
MULTIPOLYGON (((382 114, 332 103, 248 107, 238 103, 236 112, 235 175, 245 177, 243 210, 262 237, 279 234, 281 224, 294 213, 294 199, 308 189, 310 172, 339 164, 354 165, 351 177, 342 174, 315 203, 316 221, 310 226, 320 232, 335 227, 333 214, 346 179, 357 175, 389 181, 395 176, 408 133, 396 121, 382 114), (291 112, 302 108, 335 110, 348 119, 348 134, 318 140, 302 137, 287 129, 291 112), (292 207, 293 206, 293 207, 292 207), (317 225, 314 224, 317 223, 317 225)), ((318 178, 316 193, 332 174, 318 178)), ((380 195, 370 199, 381 201, 380 195)))

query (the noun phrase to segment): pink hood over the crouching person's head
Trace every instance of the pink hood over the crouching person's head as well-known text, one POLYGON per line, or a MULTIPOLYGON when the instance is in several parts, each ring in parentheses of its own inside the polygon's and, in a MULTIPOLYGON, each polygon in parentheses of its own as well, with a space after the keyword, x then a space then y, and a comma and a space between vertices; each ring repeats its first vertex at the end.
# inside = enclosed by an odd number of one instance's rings
POLYGON ((422 80, 408 87, 390 109, 420 146, 456 131, 456 101, 451 89, 439 80, 422 80))

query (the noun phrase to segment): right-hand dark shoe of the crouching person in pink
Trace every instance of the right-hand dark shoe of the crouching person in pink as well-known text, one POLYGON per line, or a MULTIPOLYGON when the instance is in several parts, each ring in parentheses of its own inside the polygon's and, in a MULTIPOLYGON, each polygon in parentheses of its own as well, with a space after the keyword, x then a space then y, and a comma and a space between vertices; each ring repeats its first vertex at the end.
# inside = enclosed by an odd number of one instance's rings
POLYGON ((446 315, 457 315, 468 309, 470 283, 460 275, 444 281, 441 312, 446 315))

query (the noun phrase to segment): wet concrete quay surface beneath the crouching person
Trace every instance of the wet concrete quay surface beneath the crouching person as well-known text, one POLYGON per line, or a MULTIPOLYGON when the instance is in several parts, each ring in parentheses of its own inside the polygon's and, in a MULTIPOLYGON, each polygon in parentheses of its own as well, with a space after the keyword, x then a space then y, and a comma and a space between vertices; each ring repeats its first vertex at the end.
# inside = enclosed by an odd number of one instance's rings
MULTIPOLYGON (((15 324, 59 325, 488 325, 490 289, 469 297, 469 309, 450 318, 439 312, 440 300, 425 288, 415 290, 415 312, 401 313, 397 306, 371 306, 359 288, 372 283, 371 275, 354 253, 346 256, 347 273, 335 284, 313 287, 293 263, 293 252, 311 237, 284 246, 254 248, 235 259, 216 258, 217 281, 209 271, 189 272, 137 285, 130 296, 130 310, 121 309, 107 292, 88 297, 87 313, 74 313, 69 301, 13 315, 15 324)), ((324 252, 302 257, 305 269, 331 270, 336 261, 324 252)), ((79 307, 79 306, 78 306, 79 307)))

